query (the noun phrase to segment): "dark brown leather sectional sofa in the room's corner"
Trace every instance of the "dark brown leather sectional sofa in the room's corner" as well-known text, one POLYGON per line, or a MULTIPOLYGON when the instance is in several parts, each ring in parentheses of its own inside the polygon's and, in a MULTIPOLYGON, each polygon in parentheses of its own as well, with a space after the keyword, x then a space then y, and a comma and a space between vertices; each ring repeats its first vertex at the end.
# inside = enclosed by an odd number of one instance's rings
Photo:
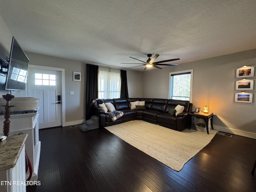
MULTIPOLYGON (((102 104, 101 99, 95 99, 97 104, 102 104)), ((144 120, 153 124, 183 131, 190 125, 189 113, 192 110, 192 103, 183 100, 158 99, 158 98, 114 98, 106 99, 114 105, 116 110, 122 111, 123 116, 112 121, 110 116, 99 108, 94 108, 94 114, 100 119, 100 127, 120 124, 131 120, 144 120), (130 102, 145 101, 145 110, 131 109, 130 102), (177 105, 184 106, 182 113, 176 115, 169 114, 171 108, 177 105)))

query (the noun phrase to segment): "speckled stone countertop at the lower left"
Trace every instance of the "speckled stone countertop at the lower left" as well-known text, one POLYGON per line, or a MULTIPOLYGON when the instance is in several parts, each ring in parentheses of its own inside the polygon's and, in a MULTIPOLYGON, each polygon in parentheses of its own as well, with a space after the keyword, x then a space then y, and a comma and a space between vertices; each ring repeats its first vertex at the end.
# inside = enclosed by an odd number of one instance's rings
POLYGON ((8 170, 16 165, 27 137, 28 134, 15 135, 0 141, 0 171, 8 170))

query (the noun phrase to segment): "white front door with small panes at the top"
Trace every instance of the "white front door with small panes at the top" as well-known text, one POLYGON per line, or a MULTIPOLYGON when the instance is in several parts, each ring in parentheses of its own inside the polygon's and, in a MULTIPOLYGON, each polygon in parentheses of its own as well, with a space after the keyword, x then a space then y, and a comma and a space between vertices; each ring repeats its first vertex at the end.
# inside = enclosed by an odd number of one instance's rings
POLYGON ((28 97, 40 98, 39 129, 62 125, 60 71, 29 68, 28 97))

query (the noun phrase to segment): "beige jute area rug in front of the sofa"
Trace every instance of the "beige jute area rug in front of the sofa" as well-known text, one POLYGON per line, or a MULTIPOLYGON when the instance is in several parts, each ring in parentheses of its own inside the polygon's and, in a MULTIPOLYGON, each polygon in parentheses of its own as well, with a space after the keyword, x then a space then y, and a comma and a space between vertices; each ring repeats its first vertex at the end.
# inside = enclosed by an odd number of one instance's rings
POLYGON ((105 129, 176 171, 180 171, 218 132, 209 130, 209 135, 194 129, 179 132, 142 120, 105 129))

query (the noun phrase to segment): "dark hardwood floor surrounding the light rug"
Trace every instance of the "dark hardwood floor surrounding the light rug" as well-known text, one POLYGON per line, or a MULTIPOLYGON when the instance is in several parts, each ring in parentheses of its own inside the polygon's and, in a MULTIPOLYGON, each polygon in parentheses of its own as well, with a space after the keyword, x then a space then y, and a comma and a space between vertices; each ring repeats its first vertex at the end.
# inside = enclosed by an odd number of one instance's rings
POLYGON ((28 192, 255 192, 256 140, 216 134, 174 171, 106 129, 40 130, 40 186, 28 192))

